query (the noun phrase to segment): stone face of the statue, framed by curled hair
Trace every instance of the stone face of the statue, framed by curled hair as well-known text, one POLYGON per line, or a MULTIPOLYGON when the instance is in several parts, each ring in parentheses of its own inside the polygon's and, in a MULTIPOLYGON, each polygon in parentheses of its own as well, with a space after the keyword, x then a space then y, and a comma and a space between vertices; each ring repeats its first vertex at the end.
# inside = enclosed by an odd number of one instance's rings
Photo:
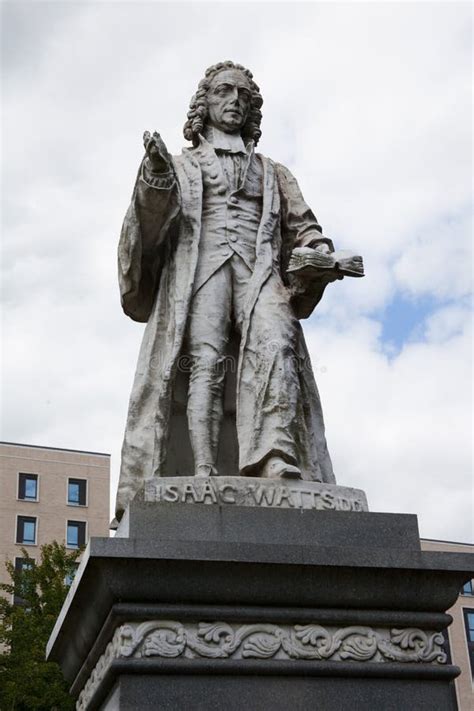
POLYGON ((226 133, 237 133, 250 109, 250 84, 238 69, 224 69, 212 79, 207 92, 208 121, 226 133))

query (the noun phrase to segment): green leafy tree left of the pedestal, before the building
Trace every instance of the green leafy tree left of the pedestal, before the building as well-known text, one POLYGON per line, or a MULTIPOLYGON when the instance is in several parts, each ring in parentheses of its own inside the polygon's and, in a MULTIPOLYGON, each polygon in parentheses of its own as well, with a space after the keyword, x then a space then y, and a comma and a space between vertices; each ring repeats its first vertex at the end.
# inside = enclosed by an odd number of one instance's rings
POLYGON ((74 709, 60 667, 46 662, 45 653, 79 555, 53 542, 41 547, 39 563, 24 548, 26 568, 6 563, 11 582, 0 585, 0 711, 74 709))

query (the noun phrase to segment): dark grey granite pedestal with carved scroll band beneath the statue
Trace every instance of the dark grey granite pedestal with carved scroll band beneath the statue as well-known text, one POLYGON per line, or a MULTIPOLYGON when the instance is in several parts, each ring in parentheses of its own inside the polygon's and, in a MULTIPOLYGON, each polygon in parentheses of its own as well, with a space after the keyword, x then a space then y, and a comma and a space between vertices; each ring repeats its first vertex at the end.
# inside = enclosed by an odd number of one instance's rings
POLYGON ((416 517, 135 501, 93 538, 51 636, 77 708, 455 709, 462 554, 416 517))

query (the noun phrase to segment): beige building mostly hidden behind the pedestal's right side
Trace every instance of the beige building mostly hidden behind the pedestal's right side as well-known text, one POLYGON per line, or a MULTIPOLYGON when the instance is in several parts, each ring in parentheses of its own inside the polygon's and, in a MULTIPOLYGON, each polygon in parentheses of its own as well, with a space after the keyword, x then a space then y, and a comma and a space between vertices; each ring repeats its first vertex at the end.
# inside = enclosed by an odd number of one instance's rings
MULTIPOLYGON (((422 538, 424 551, 447 553, 474 553, 474 546, 468 543, 433 541, 422 538)), ((474 581, 464 586, 453 607, 448 610, 453 623, 448 628, 449 653, 451 661, 461 669, 456 679, 456 697, 459 711, 474 709, 474 581)))

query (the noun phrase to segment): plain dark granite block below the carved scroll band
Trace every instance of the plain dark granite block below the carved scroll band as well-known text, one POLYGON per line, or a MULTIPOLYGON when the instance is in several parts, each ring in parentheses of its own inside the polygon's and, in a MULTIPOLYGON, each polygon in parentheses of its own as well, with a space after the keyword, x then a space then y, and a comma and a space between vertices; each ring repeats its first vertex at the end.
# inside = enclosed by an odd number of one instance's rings
POLYGON ((346 679, 179 673, 122 675, 102 711, 443 711, 456 708, 449 684, 424 679, 346 679), (402 692, 403 689, 403 692, 402 692))

